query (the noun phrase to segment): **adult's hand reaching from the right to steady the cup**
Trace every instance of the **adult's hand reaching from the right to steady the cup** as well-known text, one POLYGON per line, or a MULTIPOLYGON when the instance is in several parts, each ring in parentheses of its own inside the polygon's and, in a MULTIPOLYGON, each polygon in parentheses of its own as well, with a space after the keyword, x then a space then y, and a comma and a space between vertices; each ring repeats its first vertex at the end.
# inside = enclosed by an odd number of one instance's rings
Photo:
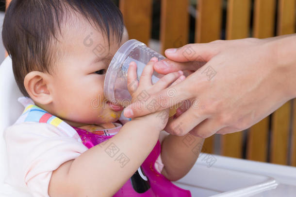
POLYGON ((135 103, 124 115, 142 116, 188 99, 189 109, 169 121, 167 132, 190 131, 206 138, 246 129, 295 97, 295 51, 295 35, 217 40, 166 50, 170 60, 155 64, 157 72, 195 72, 180 84, 150 95, 147 106, 158 101, 153 107, 143 109, 135 103))

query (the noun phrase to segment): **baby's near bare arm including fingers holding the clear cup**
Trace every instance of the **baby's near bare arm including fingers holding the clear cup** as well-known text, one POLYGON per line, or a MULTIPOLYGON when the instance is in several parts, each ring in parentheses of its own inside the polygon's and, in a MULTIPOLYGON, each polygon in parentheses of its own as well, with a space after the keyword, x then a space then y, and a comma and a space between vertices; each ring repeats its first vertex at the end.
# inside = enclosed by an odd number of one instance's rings
MULTIPOLYGON (((145 67, 137 92, 147 88, 148 93, 154 93, 160 88, 166 88, 181 76, 178 72, 170 73, 164 76, 166 85, 149 85, 153 64, 154 62, 150 61, 145 67)), ((136 97, 136 94, 132 97, 136 97)), ((113 196, 137 171, 157 143, 159 133, 165 126, 156 117, 158 113, 161 111, 132 119, 111 139, 85 151, 75 160, 62 164, 52 173, 49 196, 113 196), (124 159, 129 160, 125 165, 121 163, 124 159)))

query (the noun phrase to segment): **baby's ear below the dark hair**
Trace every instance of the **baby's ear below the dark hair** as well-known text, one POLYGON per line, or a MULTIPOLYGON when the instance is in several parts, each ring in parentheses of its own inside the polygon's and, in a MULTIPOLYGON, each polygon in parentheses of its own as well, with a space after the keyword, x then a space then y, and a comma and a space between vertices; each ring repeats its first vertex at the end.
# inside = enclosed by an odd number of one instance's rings
POLYGON ((47 105, 52 102, 49 88, 50 75, 48 73, 32 71, 24 79, 24 86, 34 102, 47 105))

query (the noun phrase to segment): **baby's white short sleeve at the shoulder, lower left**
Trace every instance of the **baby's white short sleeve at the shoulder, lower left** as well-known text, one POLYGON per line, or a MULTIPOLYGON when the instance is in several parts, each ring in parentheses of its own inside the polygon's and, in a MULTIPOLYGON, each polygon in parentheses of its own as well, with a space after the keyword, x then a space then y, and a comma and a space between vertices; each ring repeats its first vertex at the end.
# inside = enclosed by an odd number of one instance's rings
POLYGON ((83 143, 46 123, 12 125, 3 137, 8 161, 5 182, 29 189, 33 197, 49 197, 52 171, 87 150, 83 143))

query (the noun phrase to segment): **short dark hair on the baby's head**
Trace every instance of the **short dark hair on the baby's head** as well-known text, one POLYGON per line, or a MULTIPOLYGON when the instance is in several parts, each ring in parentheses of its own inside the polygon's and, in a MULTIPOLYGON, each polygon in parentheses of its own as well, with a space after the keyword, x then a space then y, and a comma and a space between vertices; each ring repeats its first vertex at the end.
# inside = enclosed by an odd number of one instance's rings
POLYGON ((12 58, 13 72, 19 90, 28 96, 24 87, 26 74, 32 71, 52 72, 52 65, 61 51, 56 49, 58 30, 71 14, 78 14, 108 37, 120 43, 123 18, 111 0, 12 0, 2 28, 2 40, 12 58))

